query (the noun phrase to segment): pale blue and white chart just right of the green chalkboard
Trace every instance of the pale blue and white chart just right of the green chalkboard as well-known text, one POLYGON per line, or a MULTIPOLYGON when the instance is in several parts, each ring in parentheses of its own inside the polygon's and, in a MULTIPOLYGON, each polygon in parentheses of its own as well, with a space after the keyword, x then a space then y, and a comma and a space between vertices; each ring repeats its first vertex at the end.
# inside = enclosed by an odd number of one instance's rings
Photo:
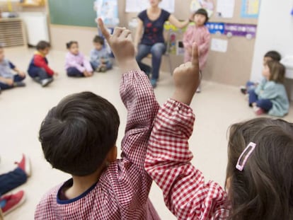
POLYGON ((97 17, 102 18, 105 25, 115 26, 119 24, 117 0, 96 0, 94 6, 97 17))

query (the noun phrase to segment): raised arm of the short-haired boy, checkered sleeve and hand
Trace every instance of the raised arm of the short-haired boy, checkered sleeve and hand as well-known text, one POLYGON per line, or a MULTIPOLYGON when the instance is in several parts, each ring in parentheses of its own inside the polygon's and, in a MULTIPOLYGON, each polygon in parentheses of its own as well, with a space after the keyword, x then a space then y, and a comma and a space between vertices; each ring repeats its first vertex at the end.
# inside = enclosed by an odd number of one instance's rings
POLYGON ((130 30, 115 28, 113 35, 110 35, 100 19, 98 23, 123 73, 120 95, 128 112, 125 137, 122 140, 122 156, 145 172, 147 142, 159 104, 148 77, 139 69, 135 60, 130 30))

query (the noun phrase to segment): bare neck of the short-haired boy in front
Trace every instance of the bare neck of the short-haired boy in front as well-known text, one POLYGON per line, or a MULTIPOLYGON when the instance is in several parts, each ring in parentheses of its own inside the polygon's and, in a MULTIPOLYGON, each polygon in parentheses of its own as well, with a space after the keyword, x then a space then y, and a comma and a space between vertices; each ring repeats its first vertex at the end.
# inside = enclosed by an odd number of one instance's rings
MULTIPOLYGON (((104 168, 105 166, 103 166, 104 168)), ((96 170, 95 173, 86 176, 76 176, 73 175, 73 185, 65 190, 65 195, 67 199, 74 199, 82 193, 86 192, 93 184, 98 182, 101 173, 103 173, 103 168, 96 170)))

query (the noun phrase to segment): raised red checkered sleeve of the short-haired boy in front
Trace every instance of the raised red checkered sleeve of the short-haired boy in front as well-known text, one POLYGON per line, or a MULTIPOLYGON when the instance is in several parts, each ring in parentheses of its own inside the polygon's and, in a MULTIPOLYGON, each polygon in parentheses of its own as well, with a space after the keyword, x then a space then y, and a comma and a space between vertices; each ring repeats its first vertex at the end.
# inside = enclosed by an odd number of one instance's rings
POLYGON ((148 77, 142 71, 130 71, 123 74, 120 95, 127 108, 122 157, 129 159, 139 170, 144 170, 147 143, 159 104, 148 77))

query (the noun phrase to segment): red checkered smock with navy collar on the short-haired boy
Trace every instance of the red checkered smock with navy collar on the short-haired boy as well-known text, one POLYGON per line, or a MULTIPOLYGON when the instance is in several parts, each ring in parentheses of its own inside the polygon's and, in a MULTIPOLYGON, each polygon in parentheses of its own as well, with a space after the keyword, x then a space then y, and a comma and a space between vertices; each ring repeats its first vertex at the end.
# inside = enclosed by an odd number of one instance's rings
MULTIPOLYGON (((159 219, 148 199, 151 178, 144 170, 159 104, 141 71, 123 74, 120 95, 128 111, 122 159, 110 163, 98 183, 77 198, 60 200, 60 186, 54 187, 38 204, 35 219, 159 219)), ((71 185, 72 180, 64 184, 71 185)))

